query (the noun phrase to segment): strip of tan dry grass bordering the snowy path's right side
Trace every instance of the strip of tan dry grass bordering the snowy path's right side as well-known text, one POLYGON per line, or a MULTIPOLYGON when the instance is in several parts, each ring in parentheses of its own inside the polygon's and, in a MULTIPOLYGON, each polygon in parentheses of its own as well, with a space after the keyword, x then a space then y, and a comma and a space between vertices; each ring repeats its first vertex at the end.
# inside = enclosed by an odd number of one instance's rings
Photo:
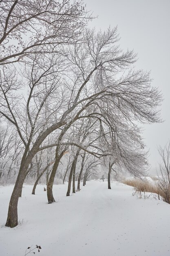
MULTIPOLYGON (((122 183, 128 185, 128 186, 133 186, 134 189, 136 191, 139 192, 150 192, 150 193, 156 193, 158 195, 158 198, 160 198, 160 196, 163 198, 164 201, 166 201, 166 194, 164 191, 162 191, 159 188, 158 184, 151 184, 150 182, 148 182, 147 180, 140 180, 140 179, 132 179, 132 180, 128 180, 125 179, 122 181, 122 183)), ((168 202, 170 203, 170 202, 168 202)))

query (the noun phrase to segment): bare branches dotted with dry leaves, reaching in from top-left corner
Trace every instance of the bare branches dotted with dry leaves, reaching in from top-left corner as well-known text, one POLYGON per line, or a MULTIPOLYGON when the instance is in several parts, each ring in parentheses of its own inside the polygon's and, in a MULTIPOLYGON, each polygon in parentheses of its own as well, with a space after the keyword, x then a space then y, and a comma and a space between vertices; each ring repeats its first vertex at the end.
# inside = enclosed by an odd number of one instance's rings
POLYGON ((79 40, 90 18, 82 1, 65 0, 1 1, 0 17, 0 65, 60 52, 60 44, 79 40))

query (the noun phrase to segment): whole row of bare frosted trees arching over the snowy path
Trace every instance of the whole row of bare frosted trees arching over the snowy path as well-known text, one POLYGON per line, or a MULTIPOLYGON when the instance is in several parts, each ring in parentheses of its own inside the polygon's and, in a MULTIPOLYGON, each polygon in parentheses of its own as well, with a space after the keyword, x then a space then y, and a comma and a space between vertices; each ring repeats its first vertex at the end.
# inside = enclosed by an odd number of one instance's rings
POLYGON ((9 163, 17 174, 7 227, 18 225, 22 185, 35 166, 37 179, 46 172, 49 203, 67 154, 67 196, 72 180, 75 193, 75 179, 79 190, 99 165, 108 180, 114 166, 138 177, 148 168, 137 123, 161 121, 161 94, 135 69, 136 54, 120 48, 117 27, 89 29, 93 18, 81 0, 0 2, 0 178, 9 163))

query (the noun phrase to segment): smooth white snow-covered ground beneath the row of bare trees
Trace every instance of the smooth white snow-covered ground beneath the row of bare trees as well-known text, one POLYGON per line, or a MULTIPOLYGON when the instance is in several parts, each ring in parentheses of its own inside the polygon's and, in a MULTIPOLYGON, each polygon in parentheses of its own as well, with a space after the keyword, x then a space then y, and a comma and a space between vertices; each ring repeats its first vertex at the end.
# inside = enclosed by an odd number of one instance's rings
MULTIPOLYGON (((40 245, 40 256, 170 256, 170 204, 132 196, 119 182, 91 181, 70 197, 67 183, 55 185, 56 203, 47 204, 38 185, 24 185, 20 224, 4 226, 12 186, 0 187, 0 255, 24 256, 40 245)), ((28 254, 30 255, 30 254, 28 254)))

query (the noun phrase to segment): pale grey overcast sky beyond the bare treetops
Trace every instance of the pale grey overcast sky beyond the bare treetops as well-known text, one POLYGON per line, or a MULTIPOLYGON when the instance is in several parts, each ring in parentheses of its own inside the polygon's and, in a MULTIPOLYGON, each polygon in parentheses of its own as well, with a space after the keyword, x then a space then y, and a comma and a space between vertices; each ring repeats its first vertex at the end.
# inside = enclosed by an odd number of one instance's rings
POLYGON ((151 71, 152 85, 161 90, 162 124, 144 126, 144 139, 150 149, 150 173, 160 162, 157 146, 170 139, 170 0, 85 0, 97 19, 96 29, 118 26, 122 49, 134 49, 139 60, 135 66, 151 71))

